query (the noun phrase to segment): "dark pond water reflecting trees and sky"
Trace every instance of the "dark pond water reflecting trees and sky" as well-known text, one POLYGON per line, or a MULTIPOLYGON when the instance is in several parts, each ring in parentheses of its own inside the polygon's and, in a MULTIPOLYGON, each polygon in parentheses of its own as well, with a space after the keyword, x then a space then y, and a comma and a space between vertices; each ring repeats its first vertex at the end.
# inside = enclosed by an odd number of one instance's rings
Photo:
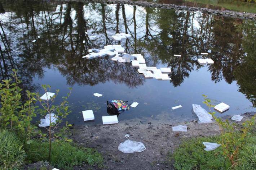
POLYGON ((0 23, 1 79, 18 69, 24 89, 41 94, 41 84, 49 84, 51 92, 60 89, 56 103, 72 87, 69 123, 102 123, 112 99, 139 103, 118 116, 127 123, 190 121, 192 104, 207 109, 202 94, 213 104, 230 105, 218 116, 256 111, 255 20, 131 5, 2 1, 0 23), (172 80, 145 79, 130 64, 107 56, 81 58, 88 49, 117 44, 111 38, 117 32, 132 35, 120 42, 127 53, 142 54, 147 66, 170 67, 172 80), (208 57, 213 65, 197 63, 208 57), (96 92, 103 96, 93 96, 96 92), (171 109, 177 105, 183 107, 171 109), (81 111, 89 109, 95 121, 84 122, 81 111))

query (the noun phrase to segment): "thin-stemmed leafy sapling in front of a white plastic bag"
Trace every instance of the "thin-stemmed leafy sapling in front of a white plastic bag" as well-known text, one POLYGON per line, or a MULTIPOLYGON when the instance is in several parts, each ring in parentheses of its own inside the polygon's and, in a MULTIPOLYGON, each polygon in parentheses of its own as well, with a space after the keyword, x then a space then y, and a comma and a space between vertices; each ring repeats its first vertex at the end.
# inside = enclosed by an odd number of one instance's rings
MULTIPOLYGON (((45 93, 49 92, 51 88, 49 85, 42 85, 42 87, 45 93)), ((50 98, 47 95, 47 98, 49 98, 49 100, 42 100, 40 98, 39 93, 36 93, 37 100, 40 102, 40 105, 42 106, 42 108, 37 109, 36 111, 37 114, 44 117, 46 115, 49 115, 50 124, 48 127, 44 127, 47 130, 48 135, 46 133, 41 133, 41 132, 39 133, 42 138, 44 138, 49 142, 49 150, 48 150, 48 158, 47 158, 48 161, 50 161, 51 159, 53 139, 57 140, 59 137, 61 137, 63 131, 68 129, 68 127, 72 126, 71 124, 68 124, 66 122, 66 125, 63 127, 62 131, 59 130, 59 132, 62 132, 62 133, 57 133, 54 131, 56 130, 56 128, 59 127, 59 124, 62 123, 63 118, 66 118, 67 115, 70 114, 69 105, 68 105, 69 103, 67 101, 67 98, 70 96, 71 88, 70 88, 70 92, 67 93, 67 96, 62 97, 63 101, 58 105, 54 105, 54 100, 56 99, 56 96, 58 95, 58 93, 59 93, 59 90, 56 90, 56 94, 52 98, 50 98)), ((65 139, 65 141, 72 142, 72 139, 65 139)))

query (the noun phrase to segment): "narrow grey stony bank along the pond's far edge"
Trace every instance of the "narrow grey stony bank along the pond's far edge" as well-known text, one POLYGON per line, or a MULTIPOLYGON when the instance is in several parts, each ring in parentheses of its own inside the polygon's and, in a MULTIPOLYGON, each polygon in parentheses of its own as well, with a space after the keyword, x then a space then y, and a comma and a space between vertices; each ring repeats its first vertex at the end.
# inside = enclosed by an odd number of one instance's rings
POLYGON ((223 17, 232 17, 232 18, 240 18, 240 19, 252 19, 256 20, 256 14, 254 13, 241 13, 230 10, 216 10, 216 9, 208 9, 208 8, 200 8, 200 7, 192 7, 192 6, 180 6, 175 4, 158 4, 158 3, 150 3, 146 1, 132 1, 132 0, 55 0, 59 2, 83 2, 83 3, 107 3, 107 4, 129 4, 129 5, 137 5, 143 7, 153 7, 153 8, 162 8, 162 9, 176 9, 176 10, 187 10, 191 12, 202 11, 206 14, 218 15, 223 17))

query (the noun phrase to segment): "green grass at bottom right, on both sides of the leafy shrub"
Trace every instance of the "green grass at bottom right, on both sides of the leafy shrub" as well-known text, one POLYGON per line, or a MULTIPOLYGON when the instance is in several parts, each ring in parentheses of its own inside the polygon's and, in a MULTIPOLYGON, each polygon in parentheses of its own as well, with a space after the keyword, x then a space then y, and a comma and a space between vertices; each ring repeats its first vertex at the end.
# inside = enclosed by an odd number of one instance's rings
MULTIPOLYGON (((220 137, 197 137, 183 141, 168 155, 168 160, 174 160, 177 170, 227 170, 231 167, 228 158, 222 155, 221 147, 213 151, 205 151, 202 142, 218 143, 220 137)), ((239 152, 237 166, 230 170, 255 170, 256 167, 256 135, 248 137, 246 144, 239 152)))

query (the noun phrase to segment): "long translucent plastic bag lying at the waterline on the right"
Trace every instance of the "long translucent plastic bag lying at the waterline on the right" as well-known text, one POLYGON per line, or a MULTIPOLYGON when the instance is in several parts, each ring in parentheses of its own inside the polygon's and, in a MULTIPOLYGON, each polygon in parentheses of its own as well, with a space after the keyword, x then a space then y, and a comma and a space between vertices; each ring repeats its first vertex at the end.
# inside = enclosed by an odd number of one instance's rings
POLYGON ((212 123, 212 115, 210 115, 203 107, 200 105, 192 104, 193 112, 198 116, 198 123, 212 123))

